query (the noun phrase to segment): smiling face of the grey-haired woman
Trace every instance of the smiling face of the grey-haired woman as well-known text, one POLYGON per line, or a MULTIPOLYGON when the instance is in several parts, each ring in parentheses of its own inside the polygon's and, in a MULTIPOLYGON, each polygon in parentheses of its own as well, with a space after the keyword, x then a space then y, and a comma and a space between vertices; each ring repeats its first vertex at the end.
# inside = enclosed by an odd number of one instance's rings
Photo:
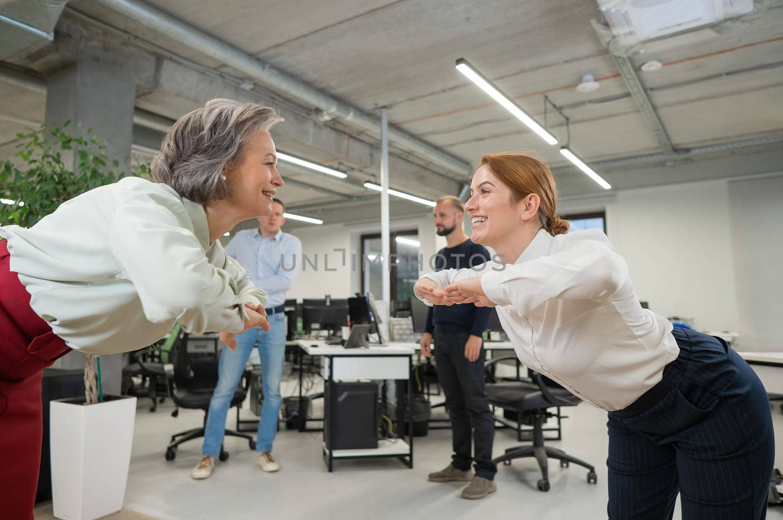
POLYGON ((272 213, 272 197, 284 183, 277 173, 275 143, 269 132, 260 131, 248 139, 241 162, 226 170, 224 175, 231 193, 229 199, 240 213, 250 217, 265 217, 272 213))

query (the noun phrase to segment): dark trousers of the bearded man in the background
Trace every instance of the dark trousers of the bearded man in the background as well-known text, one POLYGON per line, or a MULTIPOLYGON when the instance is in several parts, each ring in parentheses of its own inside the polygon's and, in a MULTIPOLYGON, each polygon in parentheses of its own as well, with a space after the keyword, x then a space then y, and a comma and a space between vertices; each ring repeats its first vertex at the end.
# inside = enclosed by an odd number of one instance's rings
POLYGON ((470 332, 450 332, 435 327, 435 368, 451 418, 452 464, 467 471, 475 460, 476 475, 493 480, 497 472, 492 461, 495 421, 484 391, 485 351, 482 348, 477 360, 468 361, 465 343, 469 336, 470 332), (472 456, 471 437, 475 457, 472 456))

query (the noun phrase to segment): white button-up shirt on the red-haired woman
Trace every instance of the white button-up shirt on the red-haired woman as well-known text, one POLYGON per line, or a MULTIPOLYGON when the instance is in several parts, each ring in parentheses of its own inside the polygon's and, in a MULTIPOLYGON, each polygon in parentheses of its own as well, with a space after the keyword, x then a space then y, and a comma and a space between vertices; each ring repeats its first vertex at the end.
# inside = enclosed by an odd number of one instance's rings
POLYGON ((513 265, 422 278, 443 288, 475 276, 521 362, 604 410, 633 403, 680 353, 672 324, 641 308, 625 260, 601 231, 541 229, 513 265))

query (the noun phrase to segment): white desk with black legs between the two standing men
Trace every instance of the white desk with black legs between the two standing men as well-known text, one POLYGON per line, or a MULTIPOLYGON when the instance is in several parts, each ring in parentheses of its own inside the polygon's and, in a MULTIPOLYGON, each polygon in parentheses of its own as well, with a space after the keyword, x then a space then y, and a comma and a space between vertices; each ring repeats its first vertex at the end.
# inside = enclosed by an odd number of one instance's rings
MULTIPOLYGON (((388 345, 369 346, 358 349, 346 349, 339 345, 327 345, 323 341, 299 340, 299 348, 308 356, 321 358, 321 375, 324 389, 334 389, 335 381, 353 381, 358 379, 394 379, 407 384, 406 396, 410 399, 410 371, 413 349, 408 346, 388 345)), ((302 357, 299 357, 299 409, 303 409, 302 357)), ((399 389, 398 389, 399 390, 399 389)), ((399 391, 398 391, 399 396, 399 391)), ((326 407, 325 407, 326 408, 326 407)), ((328 411, 325 409, 324 414, 328 411)), ((397 402, 397 428, 403 422, 403 406, 397 402)), ((306 430, 306 421, 299 423, 300 431, 306 430)), ((329 428, 329 421, 323 421, 323 427, 329 428)), ((310 430, 312 431, 312 430, 310 430)), ((330 436, 334 435, 330 432, 330 436)), ((413 468, 413 423, 408 424, 408 439, 398 438, 395 443, 388 439, 378 441, 378 447, 367 450, 331 450, 323 443, 323 460, 332 471, 335 459, 398 457, 409 468, 413 468)))

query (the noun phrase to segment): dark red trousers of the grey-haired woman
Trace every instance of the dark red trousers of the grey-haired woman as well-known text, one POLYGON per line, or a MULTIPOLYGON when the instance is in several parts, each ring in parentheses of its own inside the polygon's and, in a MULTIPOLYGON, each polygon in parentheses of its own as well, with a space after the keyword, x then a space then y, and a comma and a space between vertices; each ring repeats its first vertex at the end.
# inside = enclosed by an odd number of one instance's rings
POLYGON ((30 308, 0 240, 0 518, 32 520, 41 462, 41 375, 70 351, 30 308))

